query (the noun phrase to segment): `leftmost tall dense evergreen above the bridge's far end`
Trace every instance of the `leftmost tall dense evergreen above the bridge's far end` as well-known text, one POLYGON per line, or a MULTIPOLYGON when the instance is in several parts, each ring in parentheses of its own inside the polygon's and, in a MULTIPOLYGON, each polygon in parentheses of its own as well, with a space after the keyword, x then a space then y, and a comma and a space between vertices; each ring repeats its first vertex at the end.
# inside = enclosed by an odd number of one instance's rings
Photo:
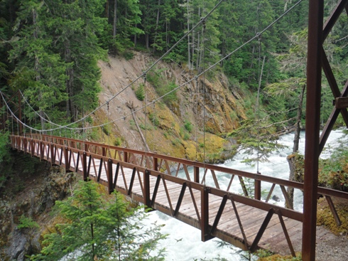
POLYGON ((9 81, 14 90, 23 90, 29 102, 40 110, 50 111, 53 120, 60 119, 58 105, 66 100, 65 70, 67 65, 51 46, 53 37, 47 32, 48 13, 42 1, 23 1, 17 13, 16 41, 9 59, 16 63, 9 81))

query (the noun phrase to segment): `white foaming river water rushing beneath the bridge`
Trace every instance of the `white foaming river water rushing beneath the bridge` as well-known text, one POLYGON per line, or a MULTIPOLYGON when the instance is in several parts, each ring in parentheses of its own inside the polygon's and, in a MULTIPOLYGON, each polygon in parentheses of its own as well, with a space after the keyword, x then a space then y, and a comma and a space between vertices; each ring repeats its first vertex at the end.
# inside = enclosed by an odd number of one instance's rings
MULTIPOLYGON (((324 151, 322 151, 321 158, 328 158, 331 154, 333 148, 339 146, 339 139, 343 136, 342 130, 332 131, 324 151)), ((273 176, 279 179, 288 179, 289 167, 286 156, 291 154, 293 148, 293 134, 286 134, 279 139, 283 145, 287 147, 281 149, 280 151, 274 152, 268 158, 268 162, 263 162, 259 164, 259 172, 262 175, 273 176)), ((305 151, 305 133, 302 132, 300 135, 300 154, 305 151)), ((243 154, 237 154, 233 159, 226 161, 220 166, 224 166, 230 169, 238 169, 241 171, 249 171, 256 173, 256 166, 250 166, 243 163, 243 154)), ((192 171, 191 171, 192 172, 192 171)), ((201 173, 202 176, 203 173, 201 173)), ((185 175, 185 174, 180 174, 185 175)), ((192 175, 192 173, 191 173, 192 175)), ((227 188, 229 182, 229 176, 226 174, 217 173, 217 179, 219 181, 220 187, 222 189, 227 188)), ((233 182, 230 191, 233 193, 242 193, 241 186, 238 181, 233 182)), ((207 177, 207 186, 214 186, 214 181, 207 177)), ((262 183, 262 190, 269 191, 271 184, 262 183)), ((276 186, 273 191, 273 195, 278 196, 281 201, 269 201, 269 203, 276 204, 278 206, 284 206, 284 198, 281 193, 281 188, 276 186)), ((303 211, 303 195, 301 191, 295 190, 294 195, 294 208, 296 211, 303 211)), ((217 247, 218 239, 210 240, 205 243, 200 241, 200 230, 186 225, 183 222, 175 220, 175 218, 170 218, 168 215, 159 213, 158 211, 153 211, 148 216, 148 222, 153 223, 157 221, 159 224, 165 224, 162 229, 162 233, 169 234, 166 240, 163 240, 161 245, 166 247, 166 261, 192 261, 206 259, 210 260, 216 257, 224 257, 227 260, 241 260, 241 257, 237 253, 239 250, 236 247, 217 247)))

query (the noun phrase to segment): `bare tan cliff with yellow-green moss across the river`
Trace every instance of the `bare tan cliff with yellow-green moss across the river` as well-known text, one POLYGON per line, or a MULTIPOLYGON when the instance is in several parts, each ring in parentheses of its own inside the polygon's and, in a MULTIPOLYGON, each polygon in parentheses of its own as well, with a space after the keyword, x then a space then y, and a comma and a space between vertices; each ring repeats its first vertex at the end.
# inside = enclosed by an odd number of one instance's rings
POLYGON ((114 123, 109 127, 112 133, 94 129, 90 138, 133 149, 145 149, 145 139, 151 151, 200 161, 216 162, 231 156, 233 141, 225 139, 223 134, 236 129, 239 121, 246 119, 240 89, 216 72, 183 85, 195 77, 195 72, 163 62, 147 73, 146 81, 140 78, 131 85, 154 61, 149 55, 134 53, 131 60, 109 57, 108 62, 99 62, 102 70, 99 100, 102 104, 116 97, 108 108, 104 106, 102 112, 94 114, 93 124, 114 123), (157 100, 179 85, 183 86, 170 97, 157 100), (139 88, 143 88, 143 100, 136 97, 139 88), (157 101, 148 105, 154 100, 157 101), (135 119, 131 107, 136 110, 135 119))

